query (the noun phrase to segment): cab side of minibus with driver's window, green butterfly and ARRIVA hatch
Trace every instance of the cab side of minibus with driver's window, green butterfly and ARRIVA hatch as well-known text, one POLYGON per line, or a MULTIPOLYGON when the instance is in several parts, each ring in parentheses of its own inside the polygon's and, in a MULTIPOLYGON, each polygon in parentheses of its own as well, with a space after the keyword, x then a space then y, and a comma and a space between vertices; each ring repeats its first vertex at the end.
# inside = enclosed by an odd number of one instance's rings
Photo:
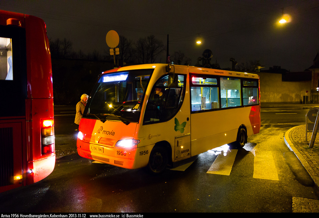
POLYGON ((182 74, 166 74, 160 77, 152 88, 143 121, 144 125, 156 123, 149 126, 148 138, 156 138, 157 142, 169 142, 173 161, 191 155, 189 97, 185 97, 186 79, 187 76, 182 74))

